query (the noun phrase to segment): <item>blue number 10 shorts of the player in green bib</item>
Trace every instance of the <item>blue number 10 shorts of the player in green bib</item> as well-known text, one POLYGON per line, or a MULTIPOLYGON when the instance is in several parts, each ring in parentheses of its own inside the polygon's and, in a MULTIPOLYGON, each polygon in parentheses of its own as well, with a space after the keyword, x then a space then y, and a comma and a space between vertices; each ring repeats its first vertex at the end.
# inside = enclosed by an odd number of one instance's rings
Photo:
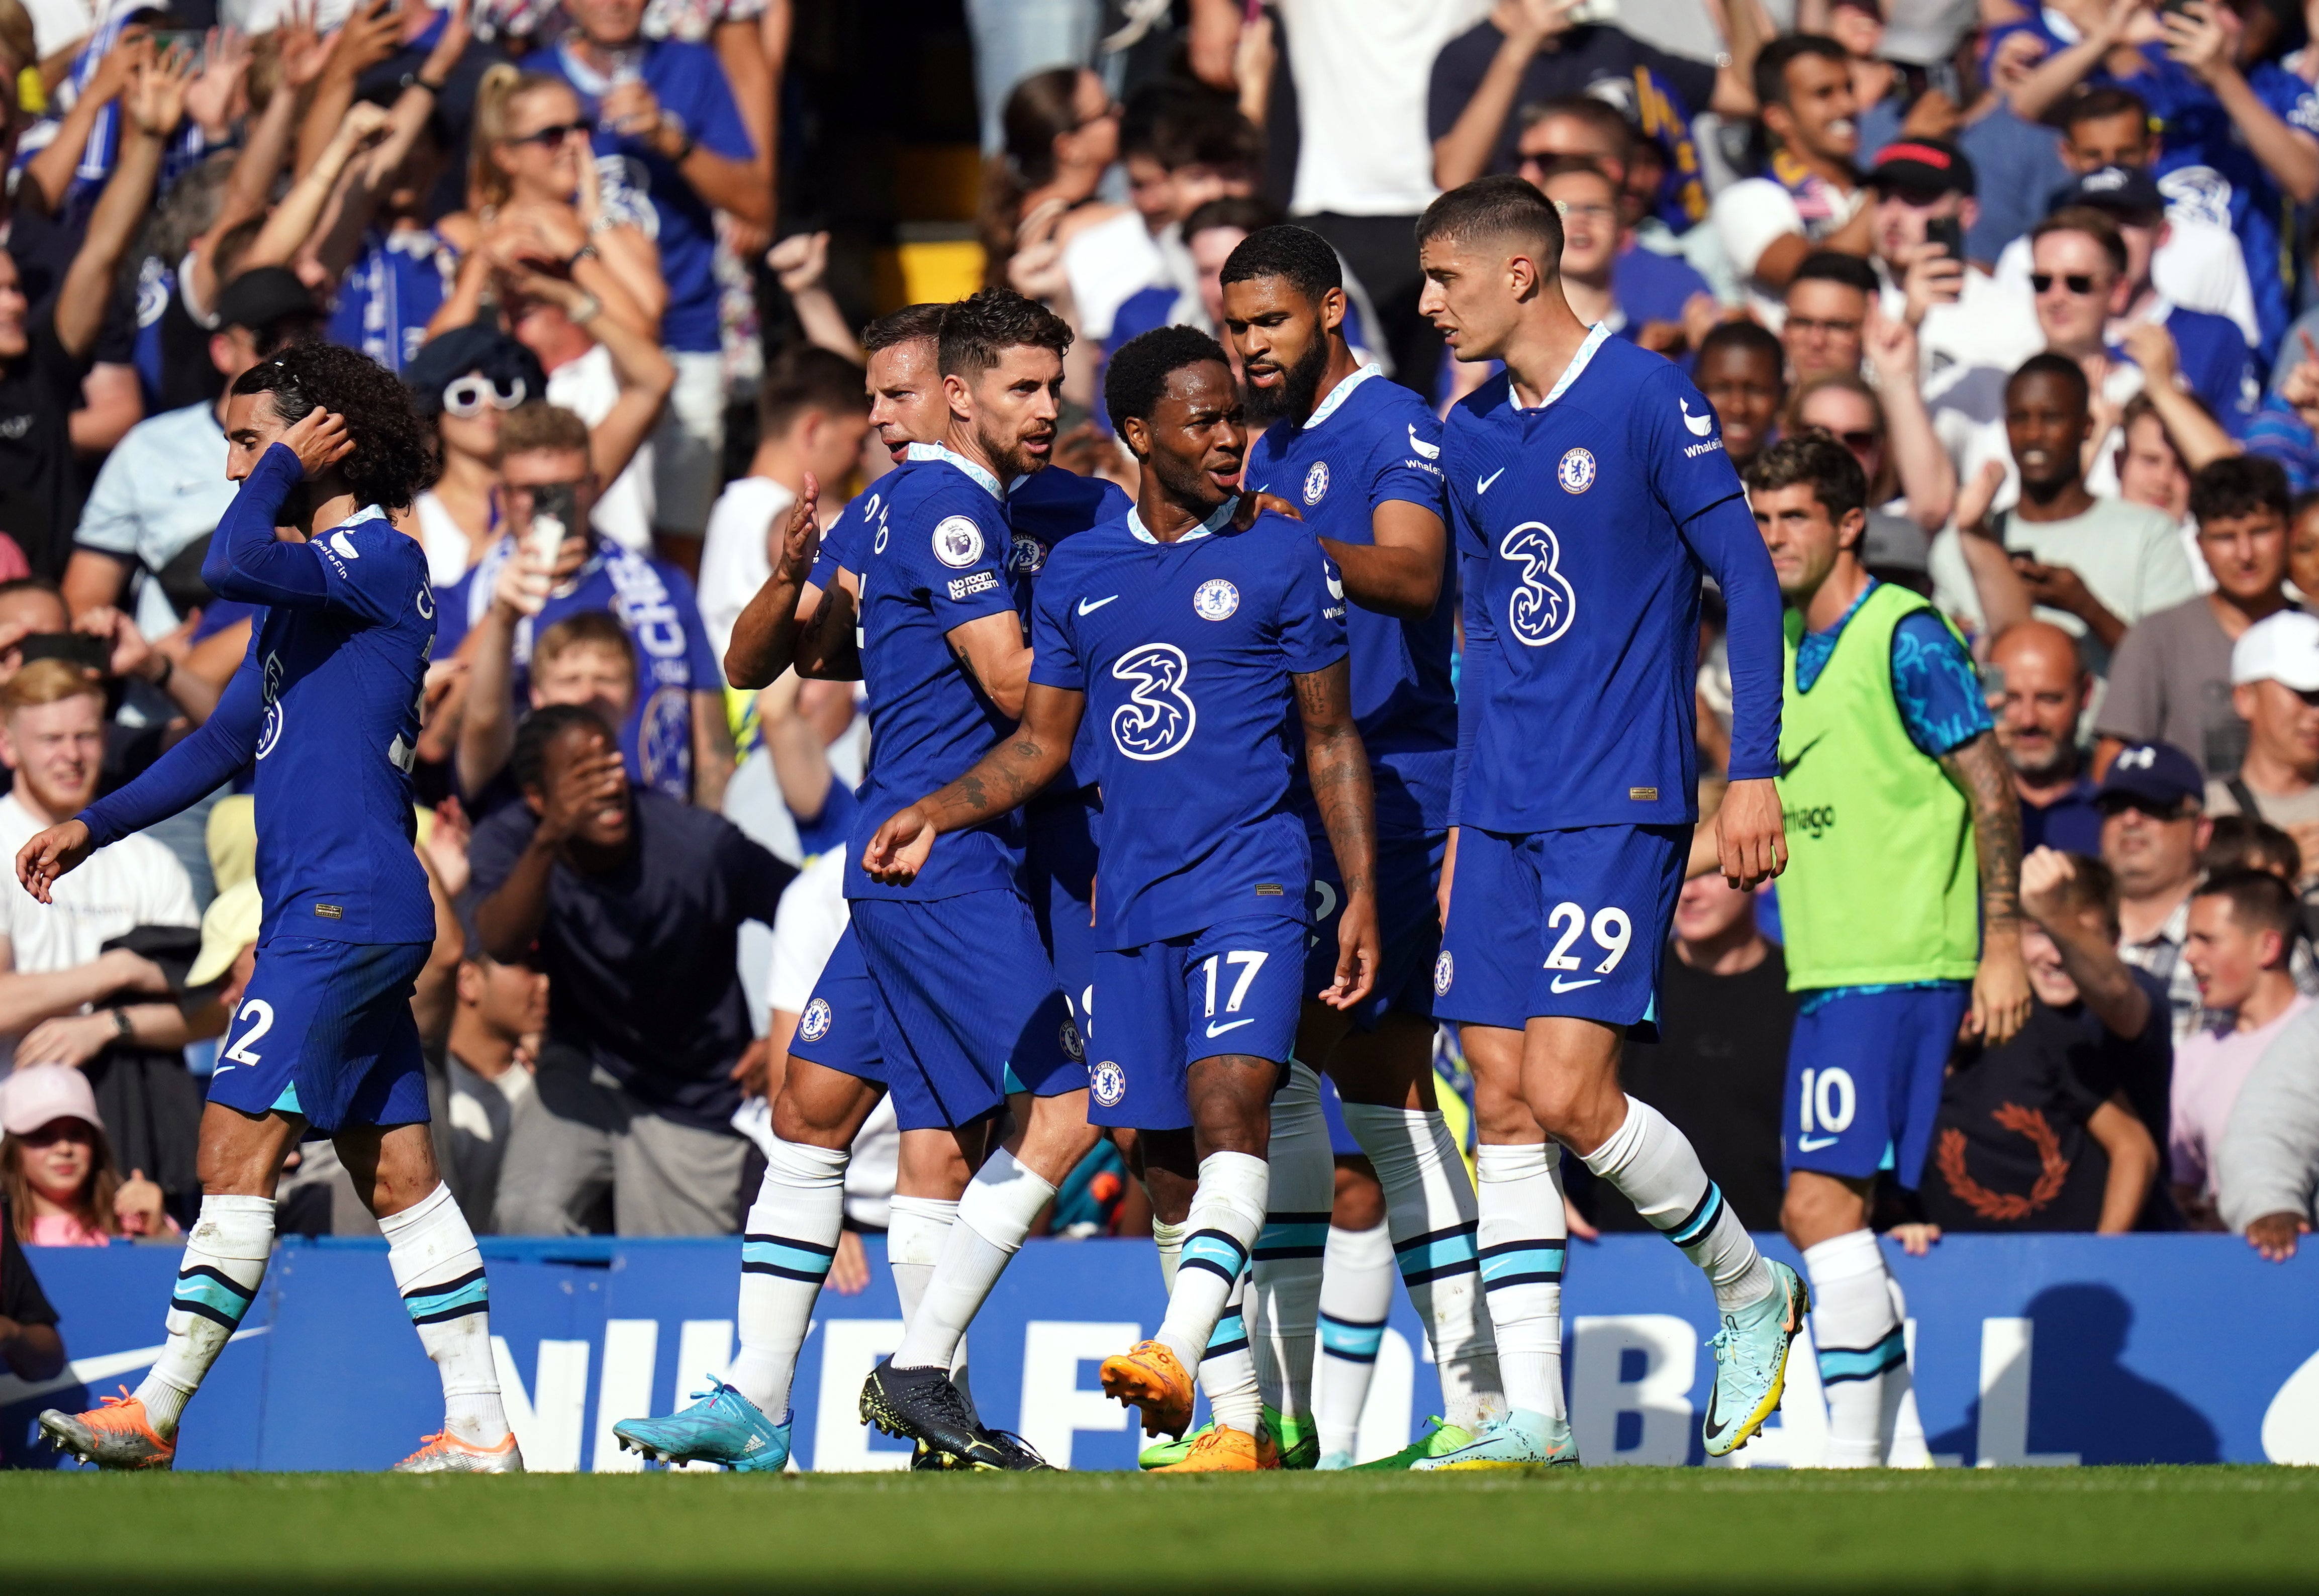
POLYGON ((1804 993, 1788 1039, 1783 1169, 1915 1190, 1941 1111, 1941 1076, 1973 1004, 1964 981, 1804 993))

